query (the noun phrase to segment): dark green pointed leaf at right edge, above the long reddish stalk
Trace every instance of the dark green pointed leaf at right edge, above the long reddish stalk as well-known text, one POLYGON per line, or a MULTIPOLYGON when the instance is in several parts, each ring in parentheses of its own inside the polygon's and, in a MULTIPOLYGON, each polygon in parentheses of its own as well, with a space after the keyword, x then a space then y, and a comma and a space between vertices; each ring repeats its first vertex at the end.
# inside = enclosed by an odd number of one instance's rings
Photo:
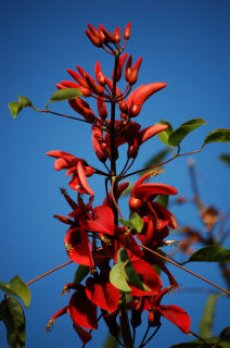
POLYGON ((207 246, 196 252, 194 252, 191 258, 183 262, 230 262, 230 250, 220 246, 207 246))

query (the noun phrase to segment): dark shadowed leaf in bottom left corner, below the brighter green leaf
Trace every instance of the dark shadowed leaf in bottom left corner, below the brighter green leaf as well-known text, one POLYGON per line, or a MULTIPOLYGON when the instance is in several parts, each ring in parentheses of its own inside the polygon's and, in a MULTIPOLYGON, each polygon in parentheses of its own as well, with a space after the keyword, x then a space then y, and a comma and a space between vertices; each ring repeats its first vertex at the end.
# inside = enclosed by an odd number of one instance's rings
POLYGON ((0 303, 0 312, 7 328, 10 348, 24 348, 26 343, 26 320, 22 304, 9 297, 0 303))

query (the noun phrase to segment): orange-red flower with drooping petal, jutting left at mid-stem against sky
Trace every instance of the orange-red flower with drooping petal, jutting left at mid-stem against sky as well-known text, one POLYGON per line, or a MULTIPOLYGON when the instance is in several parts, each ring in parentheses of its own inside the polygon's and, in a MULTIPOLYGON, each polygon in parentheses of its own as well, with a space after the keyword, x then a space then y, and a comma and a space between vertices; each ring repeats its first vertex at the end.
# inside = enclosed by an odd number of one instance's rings
POLYGON ((88 163, 84 159, 79 159, 68 152, 64 151, 49 151, 48 156, 54 157, 58 160, 54 162, 54 167, 56 171, 68 170, 66 176, 72 175, 72 179, 69 182, 71 188, 75 189, 79 194, 87 194, 94 196, 94 192, 89 187, 87 183, 87 176, 91 176, 93 174, 93 169, 88 165, 88 163))

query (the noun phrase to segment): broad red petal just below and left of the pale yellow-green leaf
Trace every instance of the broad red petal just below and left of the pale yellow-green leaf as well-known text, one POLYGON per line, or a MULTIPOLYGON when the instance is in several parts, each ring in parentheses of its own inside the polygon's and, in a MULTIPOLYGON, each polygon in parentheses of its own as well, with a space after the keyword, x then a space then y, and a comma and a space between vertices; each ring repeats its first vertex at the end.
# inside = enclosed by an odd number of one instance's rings
POLYGON ((111 283, 100 283, 89 277, 86 281, 86 295, 88 299, 108 312, 114 312, 119 302, 119 290, 111 283))

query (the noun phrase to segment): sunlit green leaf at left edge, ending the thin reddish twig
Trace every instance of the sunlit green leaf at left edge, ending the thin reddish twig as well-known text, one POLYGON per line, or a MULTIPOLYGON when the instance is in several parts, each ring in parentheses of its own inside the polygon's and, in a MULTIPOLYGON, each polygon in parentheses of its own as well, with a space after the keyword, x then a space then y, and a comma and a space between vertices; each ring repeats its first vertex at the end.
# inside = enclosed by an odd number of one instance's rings
POLYGON ((4 291, 4 294, 21 298, 25 303, 25 307, 28 308, 31 299, 31 294, 28 286, 21 279, 18 275, 15 275, 7 284, 0 282, 0 289, 4 291))

